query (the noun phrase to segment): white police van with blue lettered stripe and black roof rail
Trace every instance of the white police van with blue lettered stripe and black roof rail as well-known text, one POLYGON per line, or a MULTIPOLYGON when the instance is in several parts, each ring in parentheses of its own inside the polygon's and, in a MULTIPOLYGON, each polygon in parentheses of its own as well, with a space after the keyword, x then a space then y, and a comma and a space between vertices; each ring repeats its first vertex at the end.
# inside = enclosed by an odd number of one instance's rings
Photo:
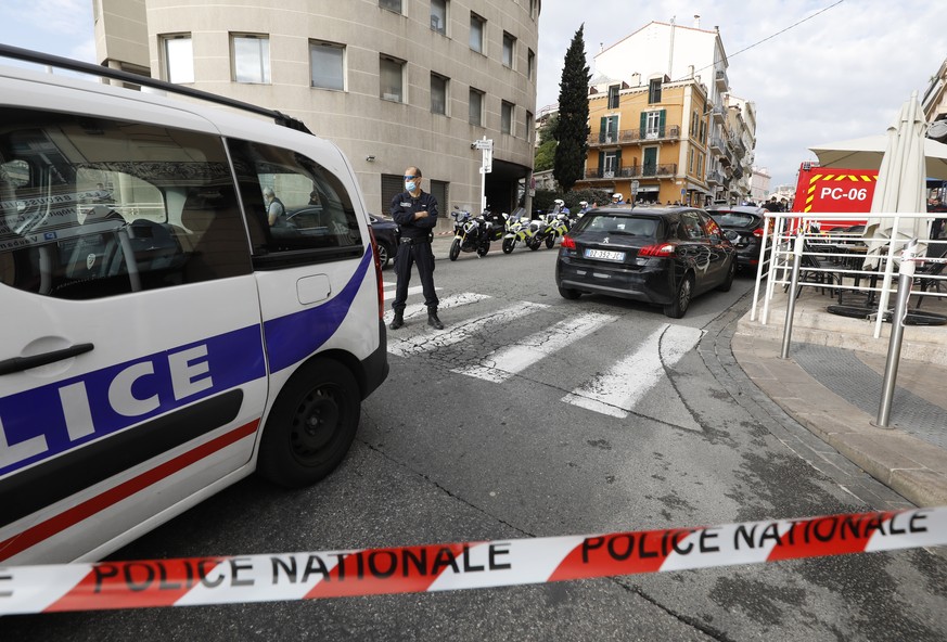
POLYGON ((102 557, 254 471, 328 475, 388 373, 342 152, 279 112, 0 56, 151 88, 0 67, 0 564, 102 557))

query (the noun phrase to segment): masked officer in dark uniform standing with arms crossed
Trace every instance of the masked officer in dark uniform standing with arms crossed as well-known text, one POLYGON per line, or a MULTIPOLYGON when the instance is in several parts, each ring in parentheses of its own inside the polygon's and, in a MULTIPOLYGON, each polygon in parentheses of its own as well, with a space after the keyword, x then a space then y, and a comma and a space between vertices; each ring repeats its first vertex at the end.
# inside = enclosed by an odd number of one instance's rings
POLYGON ((437 198, 421 190, 421 170, 409 167, 405 170, 405 191, 392 200, 392 218, 398 223, 401 237, 395 256, 395 273, 398 285, 392 309, 395 318, 388 325, 397 330, 405 324, 405 301, 408 299, 408 282, 411 280, 411 264, 418 264, 418 274, 427 306, 427 324, 444 330, 437 318, 437 294, 434 292, 434 226, 437 224, 437 198))

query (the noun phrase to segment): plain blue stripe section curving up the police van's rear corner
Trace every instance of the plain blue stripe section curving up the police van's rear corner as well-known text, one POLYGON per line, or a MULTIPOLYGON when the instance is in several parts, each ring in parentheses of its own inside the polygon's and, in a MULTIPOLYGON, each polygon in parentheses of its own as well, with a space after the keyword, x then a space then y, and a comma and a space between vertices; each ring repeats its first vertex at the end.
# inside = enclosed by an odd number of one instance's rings
POLYGON ((309 357, 335 334, 348 314, 373 258, 369 245, 351 279, 328 303, 264 323, 270 372, 279 372, 309 357))

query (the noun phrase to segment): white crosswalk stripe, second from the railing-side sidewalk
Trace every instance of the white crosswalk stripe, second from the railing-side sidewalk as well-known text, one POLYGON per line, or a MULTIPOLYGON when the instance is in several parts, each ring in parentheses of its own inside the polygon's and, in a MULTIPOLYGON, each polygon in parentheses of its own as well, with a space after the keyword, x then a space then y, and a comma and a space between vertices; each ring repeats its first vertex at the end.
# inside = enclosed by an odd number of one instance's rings
POLYGON ((517 345, 492 351, 478 363, 458 368, 451 372, 501 384, 540 359, 558 352, 577 339, 587 337, 605 323, 616 319, 617 317, 611 314, 596 312, 565 319, 548 330, 524 338, 517 345))

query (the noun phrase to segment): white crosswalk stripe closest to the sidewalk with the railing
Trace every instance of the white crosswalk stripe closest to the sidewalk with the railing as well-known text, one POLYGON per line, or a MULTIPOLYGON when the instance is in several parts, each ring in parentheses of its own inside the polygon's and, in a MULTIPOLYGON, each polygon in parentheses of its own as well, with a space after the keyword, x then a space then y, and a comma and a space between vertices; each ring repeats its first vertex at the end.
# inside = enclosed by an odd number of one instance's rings
POLYGON ((638 349, 605 374, 562 398, 566 403, 625 419, 635 405, 664 377, 664 367, 674 365, 701 341, 703 331, 683 325, 663 326, 638 349))

